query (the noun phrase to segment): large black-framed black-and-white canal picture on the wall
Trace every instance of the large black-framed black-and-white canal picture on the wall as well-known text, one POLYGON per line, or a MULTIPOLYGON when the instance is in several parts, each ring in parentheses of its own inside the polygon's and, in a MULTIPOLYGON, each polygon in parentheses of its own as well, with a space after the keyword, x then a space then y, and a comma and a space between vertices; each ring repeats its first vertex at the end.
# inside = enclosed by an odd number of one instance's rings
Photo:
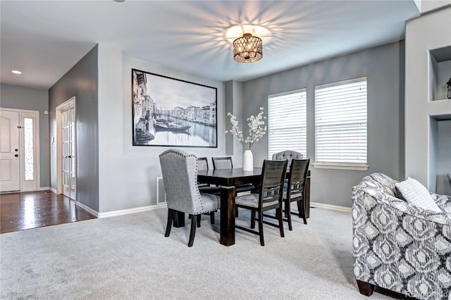
POLYGON ((133 146, 216 147, 216 88, 132 69, 133 146))

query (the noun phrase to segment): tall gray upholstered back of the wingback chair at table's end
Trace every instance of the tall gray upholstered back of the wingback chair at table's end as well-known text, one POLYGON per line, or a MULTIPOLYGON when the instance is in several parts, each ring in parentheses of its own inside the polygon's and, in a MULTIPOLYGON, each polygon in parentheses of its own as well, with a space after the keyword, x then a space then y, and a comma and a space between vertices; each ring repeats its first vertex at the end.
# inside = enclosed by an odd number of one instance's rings
POLYGON ((202 212, 197 157, 179 149, 168 149, 159 158, 168 208, 192 215, 202 212))

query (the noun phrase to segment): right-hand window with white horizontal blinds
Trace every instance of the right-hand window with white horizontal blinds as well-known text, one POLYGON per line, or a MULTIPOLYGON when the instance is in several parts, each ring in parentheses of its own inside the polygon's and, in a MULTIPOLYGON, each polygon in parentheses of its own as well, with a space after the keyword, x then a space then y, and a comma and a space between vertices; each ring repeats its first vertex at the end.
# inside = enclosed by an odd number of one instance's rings
POLYGON ((316 168, 368 170, 366 77, 315 87, 316 168))

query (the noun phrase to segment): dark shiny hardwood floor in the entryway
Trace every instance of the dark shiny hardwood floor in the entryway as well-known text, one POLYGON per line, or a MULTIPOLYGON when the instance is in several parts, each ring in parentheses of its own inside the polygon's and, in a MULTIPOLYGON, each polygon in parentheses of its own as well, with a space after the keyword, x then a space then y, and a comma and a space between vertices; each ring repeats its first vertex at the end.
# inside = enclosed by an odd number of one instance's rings
POLYGON ((0 233, 95 218, 75 201, 50 191, 0 194, 0 233))

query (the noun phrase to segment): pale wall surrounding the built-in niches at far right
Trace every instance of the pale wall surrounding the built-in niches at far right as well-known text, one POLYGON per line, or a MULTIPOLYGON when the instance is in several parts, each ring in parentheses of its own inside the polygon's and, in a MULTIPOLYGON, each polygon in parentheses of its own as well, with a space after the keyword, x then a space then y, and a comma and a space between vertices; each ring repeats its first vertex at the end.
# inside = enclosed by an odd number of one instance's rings
POLYGON ((429 51, 447 46, 451 46, 451 7, 407 22, 405 174, 419 180, 430 192, 435 192, 437 180, 437 120, 451 119, 451 100, 430 99, 434 87, 429 51))

